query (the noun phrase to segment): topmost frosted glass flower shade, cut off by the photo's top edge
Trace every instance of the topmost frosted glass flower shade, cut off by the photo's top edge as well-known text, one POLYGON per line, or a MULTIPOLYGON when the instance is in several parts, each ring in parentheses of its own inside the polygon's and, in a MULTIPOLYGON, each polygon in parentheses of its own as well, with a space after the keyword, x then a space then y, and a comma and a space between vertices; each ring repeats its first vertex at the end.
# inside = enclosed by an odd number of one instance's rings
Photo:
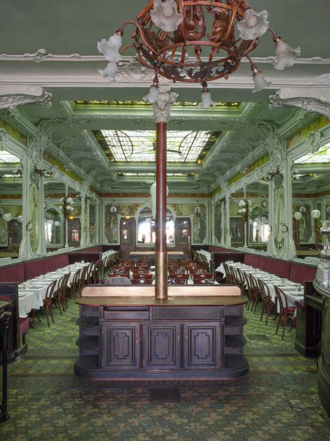
POLYGON ((150 16, 153 23, 165 32, 175 31, 183 20, 183 15, 178 13, 174 0, 155 0, 150 16))

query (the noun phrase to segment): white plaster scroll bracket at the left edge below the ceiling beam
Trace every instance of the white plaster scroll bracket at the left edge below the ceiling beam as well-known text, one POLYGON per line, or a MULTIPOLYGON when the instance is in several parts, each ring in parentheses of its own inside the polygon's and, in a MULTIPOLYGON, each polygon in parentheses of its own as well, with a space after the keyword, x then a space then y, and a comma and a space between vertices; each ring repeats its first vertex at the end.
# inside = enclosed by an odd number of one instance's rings
POLYGON ((42 87, 0 85, 0 109, 14 108, 27 103, 40 103, 50 107, 52 94, 42 87))

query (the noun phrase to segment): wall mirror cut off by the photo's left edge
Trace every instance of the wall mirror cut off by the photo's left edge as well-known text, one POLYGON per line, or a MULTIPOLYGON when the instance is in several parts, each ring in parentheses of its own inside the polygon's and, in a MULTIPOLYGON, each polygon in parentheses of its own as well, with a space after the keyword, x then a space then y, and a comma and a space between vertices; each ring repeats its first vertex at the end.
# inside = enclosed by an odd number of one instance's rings
POLYGON ((18 257, 22 221, 20 158, 0 150, 0 257, 18 257))

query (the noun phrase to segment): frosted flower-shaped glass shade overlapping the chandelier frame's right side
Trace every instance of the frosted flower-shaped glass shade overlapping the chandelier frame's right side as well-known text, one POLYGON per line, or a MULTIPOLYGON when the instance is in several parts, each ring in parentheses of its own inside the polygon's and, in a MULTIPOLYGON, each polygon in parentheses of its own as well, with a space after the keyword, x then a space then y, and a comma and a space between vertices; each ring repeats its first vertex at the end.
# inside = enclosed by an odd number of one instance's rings
POLYGON ((243 20, 237 23, 237 29, 239 29, 239 36, 243 40, 253 40, 264 35, 268 29, 269 22, 267 22, 268 13, 267 10, 262 10, 261 13, 257 13, 256 10, 250 8, 244 13, 243 20))

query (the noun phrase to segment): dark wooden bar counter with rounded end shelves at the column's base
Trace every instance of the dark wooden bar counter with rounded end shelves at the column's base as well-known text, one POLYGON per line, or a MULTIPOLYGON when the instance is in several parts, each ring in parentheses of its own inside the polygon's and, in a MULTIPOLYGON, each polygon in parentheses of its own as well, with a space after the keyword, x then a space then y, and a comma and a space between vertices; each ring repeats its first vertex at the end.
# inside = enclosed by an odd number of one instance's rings
POLYGON ((239 287, 84 287, 75 374, 89 379, 232 379, 248 374, 239 287))

